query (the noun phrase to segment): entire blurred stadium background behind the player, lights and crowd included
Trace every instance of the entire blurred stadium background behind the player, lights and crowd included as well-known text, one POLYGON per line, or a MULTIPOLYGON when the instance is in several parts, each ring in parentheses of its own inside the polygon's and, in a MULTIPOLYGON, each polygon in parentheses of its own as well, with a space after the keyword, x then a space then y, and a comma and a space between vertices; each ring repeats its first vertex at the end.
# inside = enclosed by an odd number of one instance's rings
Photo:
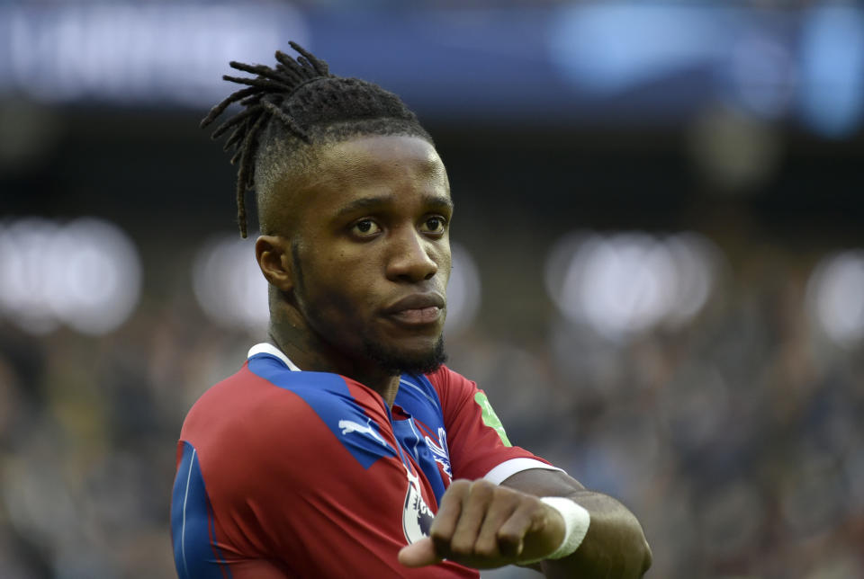
POLYGON ((184 413, 264 335, 196 126, 288 40, 419 111, 450 365, 649 577, 864 576, 864 12, 771 0, 0 2, 0 576, 173 576, 184 413))

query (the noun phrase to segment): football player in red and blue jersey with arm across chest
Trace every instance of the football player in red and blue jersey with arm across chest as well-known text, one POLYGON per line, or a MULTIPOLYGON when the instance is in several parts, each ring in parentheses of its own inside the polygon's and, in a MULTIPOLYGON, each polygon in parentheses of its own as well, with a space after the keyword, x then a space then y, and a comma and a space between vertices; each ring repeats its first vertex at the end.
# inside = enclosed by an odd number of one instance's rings
MULTIPOLYGON (((213 108, 257 195, 268 343, 187 415, 171 509, 183 579, 640 577, 634 515, 512 446, 443 365, 453 201, 394 94, 292 43, 213 108)), ((250 255, 251 259, 251 255, 250 255)))

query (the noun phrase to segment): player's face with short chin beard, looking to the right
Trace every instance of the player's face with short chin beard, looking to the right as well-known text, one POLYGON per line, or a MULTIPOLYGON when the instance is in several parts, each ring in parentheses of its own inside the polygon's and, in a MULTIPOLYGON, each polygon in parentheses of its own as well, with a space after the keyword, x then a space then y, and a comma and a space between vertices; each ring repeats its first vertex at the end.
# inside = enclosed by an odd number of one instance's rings
POLYGON ((302 178, 294 301, 317 340, 352 363, 428 371, 443 361, 453 213, 446 171, 422 138, 321 146, 302 178))

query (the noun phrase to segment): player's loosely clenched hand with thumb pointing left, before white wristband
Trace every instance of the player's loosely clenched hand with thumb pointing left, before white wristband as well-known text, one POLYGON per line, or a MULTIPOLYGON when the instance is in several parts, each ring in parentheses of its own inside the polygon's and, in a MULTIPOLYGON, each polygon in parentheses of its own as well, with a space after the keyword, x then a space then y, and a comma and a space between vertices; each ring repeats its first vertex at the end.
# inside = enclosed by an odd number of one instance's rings
POLYGON ((476 569, 533 561, 564 538, 561 514, 533 494, 486 480, 455 480, 441 498, 428 538, 402 548, 404 566, 449 559, 476 569))

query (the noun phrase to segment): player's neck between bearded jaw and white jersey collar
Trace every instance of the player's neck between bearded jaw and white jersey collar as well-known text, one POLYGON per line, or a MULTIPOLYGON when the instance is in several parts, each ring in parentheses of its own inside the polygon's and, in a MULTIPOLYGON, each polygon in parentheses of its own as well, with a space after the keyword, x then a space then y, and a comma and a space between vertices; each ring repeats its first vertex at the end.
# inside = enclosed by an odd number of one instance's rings
POLYGON ((382 370, 374 363, 360 362, 337 352, 329 343, 311 332, 293 310, 279 308, 270 316, 270 341, 301 370, 331 372, 360 382, 381 395, 392 407, 399 391, 399 375, 382 370))

